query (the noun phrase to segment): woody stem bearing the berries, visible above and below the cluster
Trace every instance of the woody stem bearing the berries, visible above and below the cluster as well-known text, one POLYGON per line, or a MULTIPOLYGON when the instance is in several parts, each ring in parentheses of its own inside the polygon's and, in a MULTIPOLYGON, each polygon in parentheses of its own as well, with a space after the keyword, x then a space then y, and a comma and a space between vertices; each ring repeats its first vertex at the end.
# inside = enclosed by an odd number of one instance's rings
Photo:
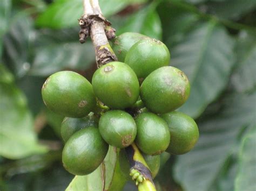
MULTIPOLYGON (((114 37, 115 30, 109 29, 111 23, 103 16, 98 0, 84 0, 84 15, 79 19, 79 25, 81 27, 79 41, 85 43, 85 39, 88 36, 91 37, 98 68, 111 61, 117 61, 117 56, 107 41, 114 37)), ((125 150, 129 158, 131 172, 133 170, 139 174, 135 180, 139 191, 156 190, 149 167, 138 147, 133 143, 125 150)))

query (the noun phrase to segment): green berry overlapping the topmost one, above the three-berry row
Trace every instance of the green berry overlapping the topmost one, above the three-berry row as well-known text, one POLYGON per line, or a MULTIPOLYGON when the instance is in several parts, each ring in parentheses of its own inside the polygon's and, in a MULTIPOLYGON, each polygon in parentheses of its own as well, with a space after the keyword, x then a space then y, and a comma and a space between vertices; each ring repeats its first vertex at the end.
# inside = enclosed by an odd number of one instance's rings
POLYGON ((143 39, 130 48, 124 62, 134 70, 139 79, 145 79, 157 68, 169 65, 170 52, 159 40, 143 39))

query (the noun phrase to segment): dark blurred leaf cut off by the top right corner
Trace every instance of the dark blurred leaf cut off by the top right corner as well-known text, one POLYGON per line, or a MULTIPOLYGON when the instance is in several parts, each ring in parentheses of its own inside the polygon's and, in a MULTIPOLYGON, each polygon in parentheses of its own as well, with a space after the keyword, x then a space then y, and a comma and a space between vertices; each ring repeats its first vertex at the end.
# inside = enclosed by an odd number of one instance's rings
POLYGON ((223 18, 237 19, 247 12, 256 8, 254 0, 226 0, 226 1, 209 1, 208 9, 211 13, 223 18))

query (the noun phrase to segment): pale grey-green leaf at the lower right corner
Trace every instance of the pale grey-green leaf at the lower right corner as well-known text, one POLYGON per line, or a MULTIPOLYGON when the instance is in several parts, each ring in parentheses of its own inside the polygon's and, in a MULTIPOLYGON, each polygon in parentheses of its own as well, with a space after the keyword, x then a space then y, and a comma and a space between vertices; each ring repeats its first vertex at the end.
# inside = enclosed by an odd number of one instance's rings
POLYGON ((254 191, 256 190, 256 123, 253 131, 242 139, 239 151, 239 169, 235 179, 235 191, 254 191))

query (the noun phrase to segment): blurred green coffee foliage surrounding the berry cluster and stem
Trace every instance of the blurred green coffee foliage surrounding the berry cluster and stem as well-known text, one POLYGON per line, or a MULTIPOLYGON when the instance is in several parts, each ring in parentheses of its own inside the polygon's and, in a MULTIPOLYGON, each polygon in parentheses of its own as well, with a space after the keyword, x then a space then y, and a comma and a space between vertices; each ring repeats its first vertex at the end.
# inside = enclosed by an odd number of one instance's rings
MULTIPOLYGON (((117 34, 162 40, 191 82, 180 110, 197 119, 199 142, 162 158, 158 189, 255 190, 256 1, 99 2, 117 34)), ((73 178, 61 163, 63 117, 46 110, 41 87, 64 69, 91 79, 92 44, 78 42, 82 13, 81 0, 0 1, 1 190, 64 190, 73 178)))

